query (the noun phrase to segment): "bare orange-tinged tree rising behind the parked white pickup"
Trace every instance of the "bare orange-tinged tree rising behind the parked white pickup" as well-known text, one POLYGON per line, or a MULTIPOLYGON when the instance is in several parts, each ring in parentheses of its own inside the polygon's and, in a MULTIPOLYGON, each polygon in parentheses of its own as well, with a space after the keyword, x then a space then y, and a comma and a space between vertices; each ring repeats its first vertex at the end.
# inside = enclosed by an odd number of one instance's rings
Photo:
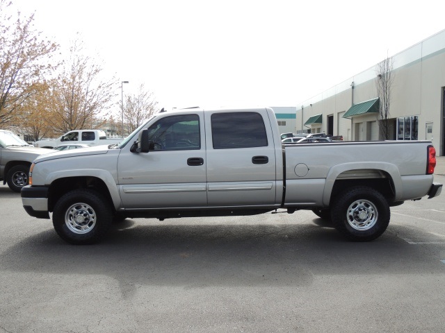
POLYGON ((102 67, 83 54, 77 39, 70 47, 70 58, 51 83, 50 127, 56 133, 83 128, 100 128, 118 95, 115 78, 104 80, 102 67))

